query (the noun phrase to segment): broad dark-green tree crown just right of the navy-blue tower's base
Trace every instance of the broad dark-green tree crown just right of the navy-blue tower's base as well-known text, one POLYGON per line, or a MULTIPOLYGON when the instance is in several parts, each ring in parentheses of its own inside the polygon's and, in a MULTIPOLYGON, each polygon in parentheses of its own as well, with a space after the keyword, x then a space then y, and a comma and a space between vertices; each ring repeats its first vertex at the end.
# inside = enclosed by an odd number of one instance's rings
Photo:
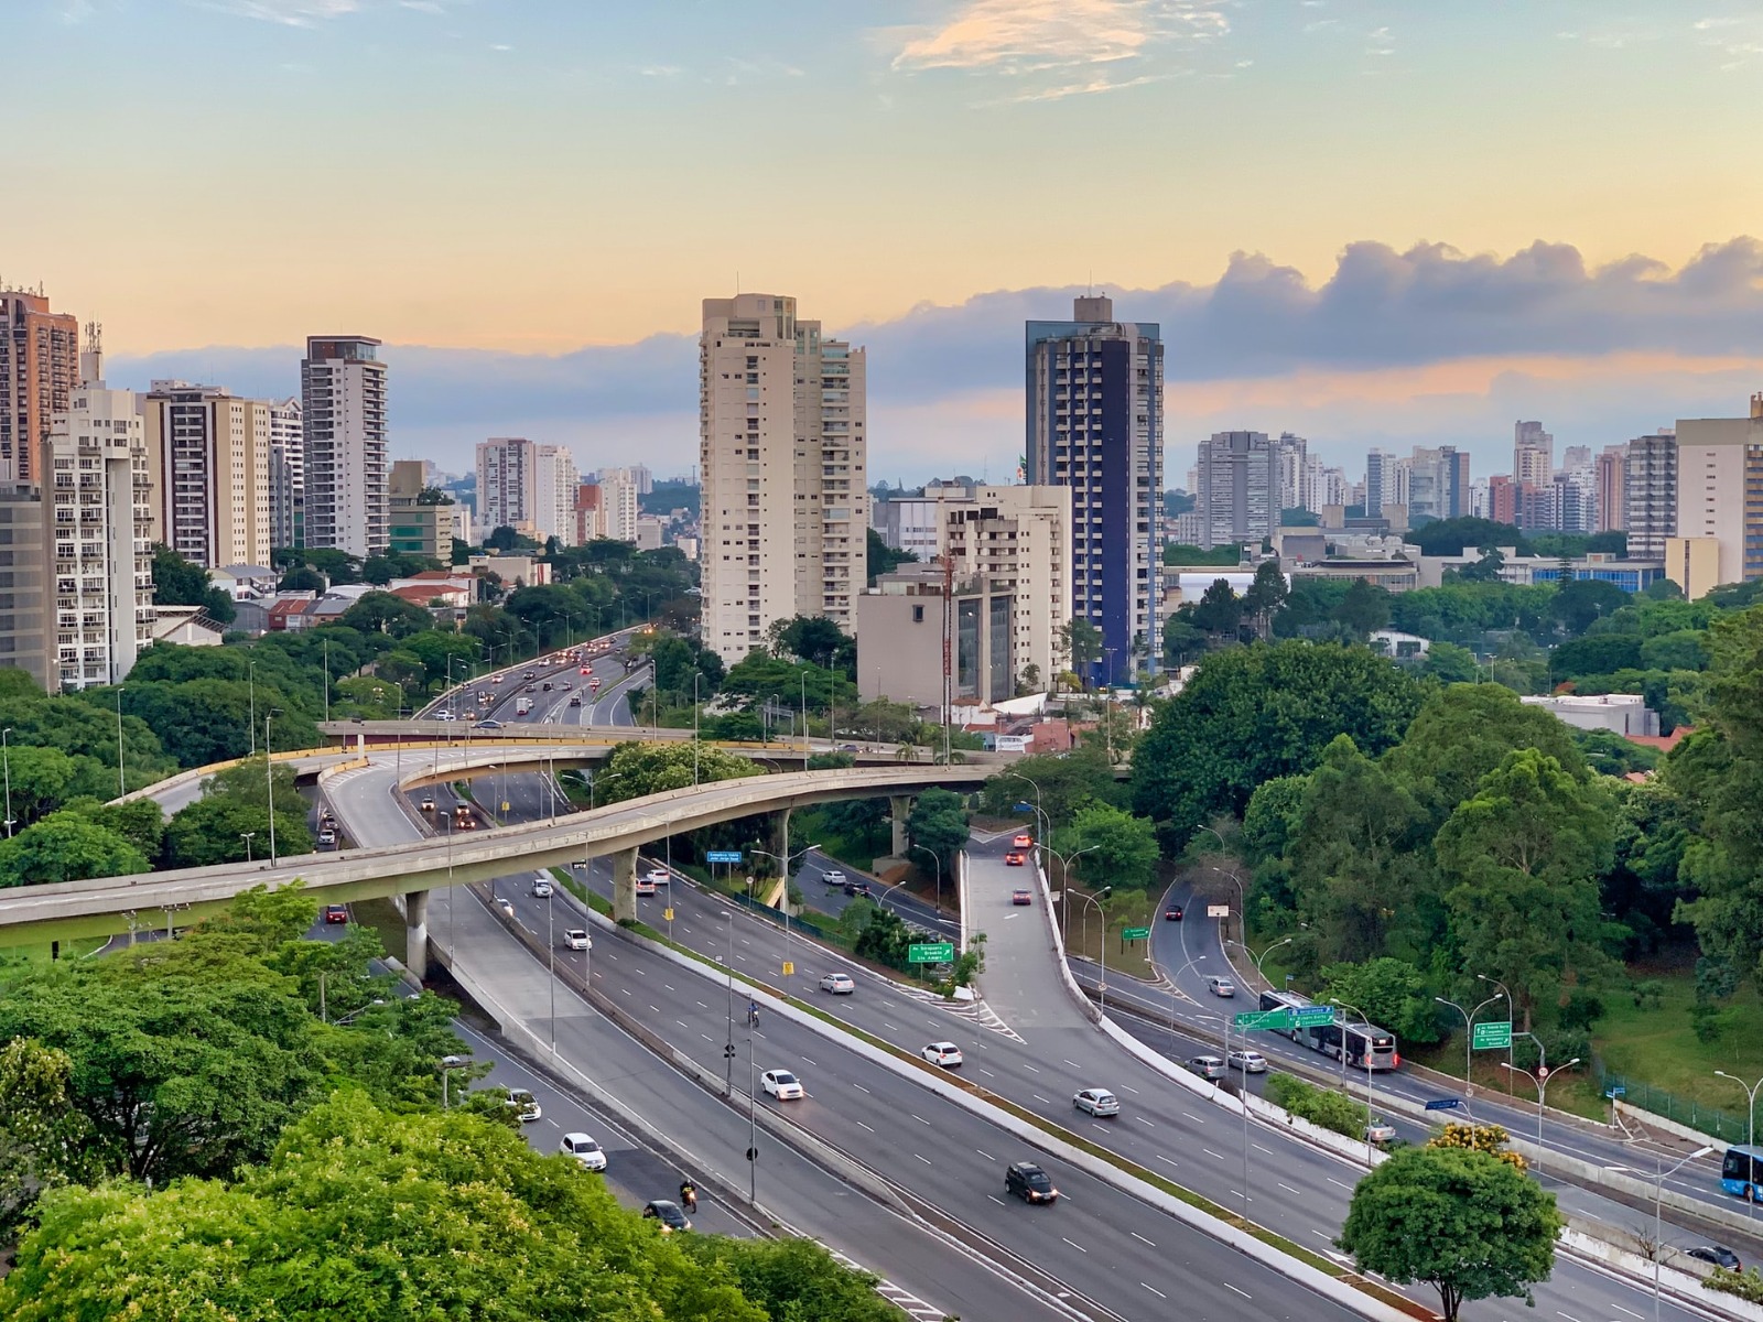
POLYGON ((1400 666, 1363 647, 1282 642, 1215 652, 1134 749, 1134 811, 1186 843, 1201 821, 1241 813, 1262 781, 1308 772, 1335 735, 1350 735, 1368 756, 1382 753, 1421 694, 1400 666))

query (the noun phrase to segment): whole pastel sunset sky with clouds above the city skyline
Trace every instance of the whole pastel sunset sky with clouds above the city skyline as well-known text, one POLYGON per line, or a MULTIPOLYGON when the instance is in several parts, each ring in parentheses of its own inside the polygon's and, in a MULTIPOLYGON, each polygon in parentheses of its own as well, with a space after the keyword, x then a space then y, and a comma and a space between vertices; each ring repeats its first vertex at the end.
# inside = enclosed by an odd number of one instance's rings
POLYGON ((1222 428, 1481 476, 1763 390, 1754 0, 0 0, 0 284, 111 384, 383 338, 455 471, 684 472, 735 289, 867 347, 906 483, 1010 479, 1021 323, 1088 287, 1162 324, 1174 485, 1222 428))

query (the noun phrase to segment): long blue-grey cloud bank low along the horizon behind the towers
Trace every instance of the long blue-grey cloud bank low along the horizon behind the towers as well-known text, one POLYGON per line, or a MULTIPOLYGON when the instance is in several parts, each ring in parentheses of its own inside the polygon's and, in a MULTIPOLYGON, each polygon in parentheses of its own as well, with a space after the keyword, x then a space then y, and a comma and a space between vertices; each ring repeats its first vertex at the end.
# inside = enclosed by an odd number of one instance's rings
MULTIPOLYGON (((813 291, 795 293, 811 307, 813 291)), ((1023 437, 1023 323, 1065 317, 1079 293, 993 291, 829 326, 867 347, 874 476, 987 465, 1007 474, 1023 437)), ((1710 243, 1677 268, 1645 256, 1592 266, 1567 243, 1502 257, 1361 241, 1322 282, 1239 252, 1209 284, 1107 293, 1118 317, 1162 326, 1178 479, 1188 446, 1224 425, 1291 428, 1359 451, 1366 437, 1486 449, 1504 444, 1490 418, 1506 416, 1509 437, 1523 414, 1590 444, 1731 412, 1763 388, 1754 238, 1710 243)), ((682 472, 696 457, 691 335, 568 354, 386 345, 383 356, 400 455, 458 467, 471 441, 532 435, 575 446, 582 467, 638 455, 682 472)), ((300 388, 300 349, 113 354, 108 375, 134 388, 185 377, 286 397, 300 388)))

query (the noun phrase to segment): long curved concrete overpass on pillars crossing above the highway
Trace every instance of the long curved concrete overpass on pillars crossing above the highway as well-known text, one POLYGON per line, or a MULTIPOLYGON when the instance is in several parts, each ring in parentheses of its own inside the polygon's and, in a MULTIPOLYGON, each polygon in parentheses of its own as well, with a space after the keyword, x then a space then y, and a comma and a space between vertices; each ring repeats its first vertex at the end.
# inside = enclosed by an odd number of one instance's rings
MULTIPOLYGON (((483 774, 515 761, 545 763, 554 749, 472 749, 472 753, 411 756, 397 767, 381 753, 372 761, 376 783, 390 798, 397 790, 483 774)), ((189 924, 229 904, 257 885, 272 890, 305 881, 314 902, 342 904, 402 895, 409 924, 411 968, 421 977, 427 952, 427 901, 435 887, 455 887, 506 876, 510 871, 566 867, 584 858, 614 857, 617 881, 614 913, 636 913, 636 851, 666 836, 679 836, 735 818, 786 813, 839 798, 910 797, 931 786, 971 790, 996 769, 989 765, 896 763, 841 767, 813 772, 751 776, 739 781, 668 790, 629 798, 557 821, 455 834, 376 850, 342 850, 282 858, 275 864, 222 864, 138 876, 92 878, 0 892, 0 945, 115 936, 164 924, 189 924), (178 918, 176 915, 183 915, 178 918)), ((370 793, 349 784, 351 793, 370 793)))

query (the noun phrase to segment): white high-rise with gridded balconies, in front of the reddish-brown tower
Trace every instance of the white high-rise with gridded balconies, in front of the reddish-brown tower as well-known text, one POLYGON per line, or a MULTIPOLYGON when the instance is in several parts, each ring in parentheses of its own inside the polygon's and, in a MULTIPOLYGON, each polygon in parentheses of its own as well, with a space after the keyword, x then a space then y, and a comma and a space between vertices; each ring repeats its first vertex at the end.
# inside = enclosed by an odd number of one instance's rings
POLYGON ((49 427, 42 474, 49 673, 63 689, 120 684, 153 642, 153 502, 134 391, 106 388, 97 326, 86 328, 69 409, 49 427))

